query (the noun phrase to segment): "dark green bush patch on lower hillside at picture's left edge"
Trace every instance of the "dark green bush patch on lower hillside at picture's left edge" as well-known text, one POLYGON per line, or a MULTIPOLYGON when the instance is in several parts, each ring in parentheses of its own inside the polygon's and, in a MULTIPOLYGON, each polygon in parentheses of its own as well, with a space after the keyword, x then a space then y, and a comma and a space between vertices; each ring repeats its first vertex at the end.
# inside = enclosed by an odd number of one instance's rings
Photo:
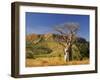
POLYGON ((26 58, 37 58, 37 57, 43 57, 47 54, 50 54, 52 50, 50 48, 40 46, 40 45, 27 45, 27 52, 26 52, 26 58))

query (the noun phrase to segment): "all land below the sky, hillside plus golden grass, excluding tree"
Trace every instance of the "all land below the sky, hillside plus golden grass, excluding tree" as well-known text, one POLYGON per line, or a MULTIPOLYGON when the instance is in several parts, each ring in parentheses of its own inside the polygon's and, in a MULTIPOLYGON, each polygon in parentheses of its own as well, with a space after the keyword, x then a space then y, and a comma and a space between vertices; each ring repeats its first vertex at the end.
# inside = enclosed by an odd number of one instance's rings
POLYGON ((56 34, 26 36, 26 67, 89 64, 89 42, 84 38, 77 38, 77 42, 72 46, 72 61, 66 62, 64 47, 55 41, 56 36, 56 34))

